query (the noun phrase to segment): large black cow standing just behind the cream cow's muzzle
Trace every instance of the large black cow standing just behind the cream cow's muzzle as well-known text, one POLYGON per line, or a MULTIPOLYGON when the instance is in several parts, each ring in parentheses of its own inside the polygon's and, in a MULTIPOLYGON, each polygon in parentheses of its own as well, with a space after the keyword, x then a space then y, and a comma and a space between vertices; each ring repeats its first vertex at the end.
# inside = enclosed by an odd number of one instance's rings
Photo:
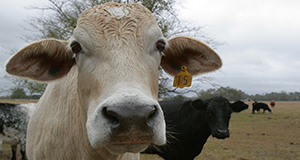
POLYGON ((158 154, 166 160, 191 160, 200 154, 207 138, 229 137, 230 103, 223 97, 205 101, 161 101, 167 124, 167 144, 150 146, 143 153, 158 154))

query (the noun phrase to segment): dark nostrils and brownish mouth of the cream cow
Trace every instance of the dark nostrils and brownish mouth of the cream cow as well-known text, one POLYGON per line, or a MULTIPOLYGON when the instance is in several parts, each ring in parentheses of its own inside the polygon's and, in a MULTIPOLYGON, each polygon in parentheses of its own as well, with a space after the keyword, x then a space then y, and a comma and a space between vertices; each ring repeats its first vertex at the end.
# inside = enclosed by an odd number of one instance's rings
POLYGON ((156 105, 109 106, 102 113, 111 124, 111 138, 115 144, 148 143, 153 137, 156 105))

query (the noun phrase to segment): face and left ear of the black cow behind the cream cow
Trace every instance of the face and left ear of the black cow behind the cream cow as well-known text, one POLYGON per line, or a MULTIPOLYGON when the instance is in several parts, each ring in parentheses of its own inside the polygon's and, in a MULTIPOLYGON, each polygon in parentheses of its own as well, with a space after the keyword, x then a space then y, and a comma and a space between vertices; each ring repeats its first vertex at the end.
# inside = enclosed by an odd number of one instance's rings
POLYGON ((204 119, 208 127, 211 129, 213 137, 225 139, 229 137, 229 120, 232 110, 230 102, 223 97, 214 97, 204 102, 195 100, 192 105, 198 106, 197 109, 204 111, 204 119))

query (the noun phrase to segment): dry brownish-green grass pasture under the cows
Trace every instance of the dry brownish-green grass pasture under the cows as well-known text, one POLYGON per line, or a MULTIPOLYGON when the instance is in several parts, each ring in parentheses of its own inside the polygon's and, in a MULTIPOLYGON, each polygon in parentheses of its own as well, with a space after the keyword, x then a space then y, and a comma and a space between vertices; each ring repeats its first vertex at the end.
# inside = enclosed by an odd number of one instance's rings
MULTIPOLYGON (((232 114, 230 138, 210 137, 196 160, 300 160, 300 102, 276 102, 272 114, 251 114, 246 103, 248 110, 232 114)), ((10 146, 2 145, 0 160, 9 160, 10 154, 10 146)), ((161 158, 141 155, 141 160, 161 158)))

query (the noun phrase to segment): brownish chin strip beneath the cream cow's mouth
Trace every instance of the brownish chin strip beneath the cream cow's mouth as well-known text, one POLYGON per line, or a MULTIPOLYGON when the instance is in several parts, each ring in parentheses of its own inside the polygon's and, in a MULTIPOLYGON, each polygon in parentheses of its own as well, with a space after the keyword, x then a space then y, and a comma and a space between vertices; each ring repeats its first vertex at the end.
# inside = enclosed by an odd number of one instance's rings
POLYGON ((147 149, 150 143, 143 144, 111 144, 105 148, 112 154, 124 154, 126 152, 139 153, 147 149))

